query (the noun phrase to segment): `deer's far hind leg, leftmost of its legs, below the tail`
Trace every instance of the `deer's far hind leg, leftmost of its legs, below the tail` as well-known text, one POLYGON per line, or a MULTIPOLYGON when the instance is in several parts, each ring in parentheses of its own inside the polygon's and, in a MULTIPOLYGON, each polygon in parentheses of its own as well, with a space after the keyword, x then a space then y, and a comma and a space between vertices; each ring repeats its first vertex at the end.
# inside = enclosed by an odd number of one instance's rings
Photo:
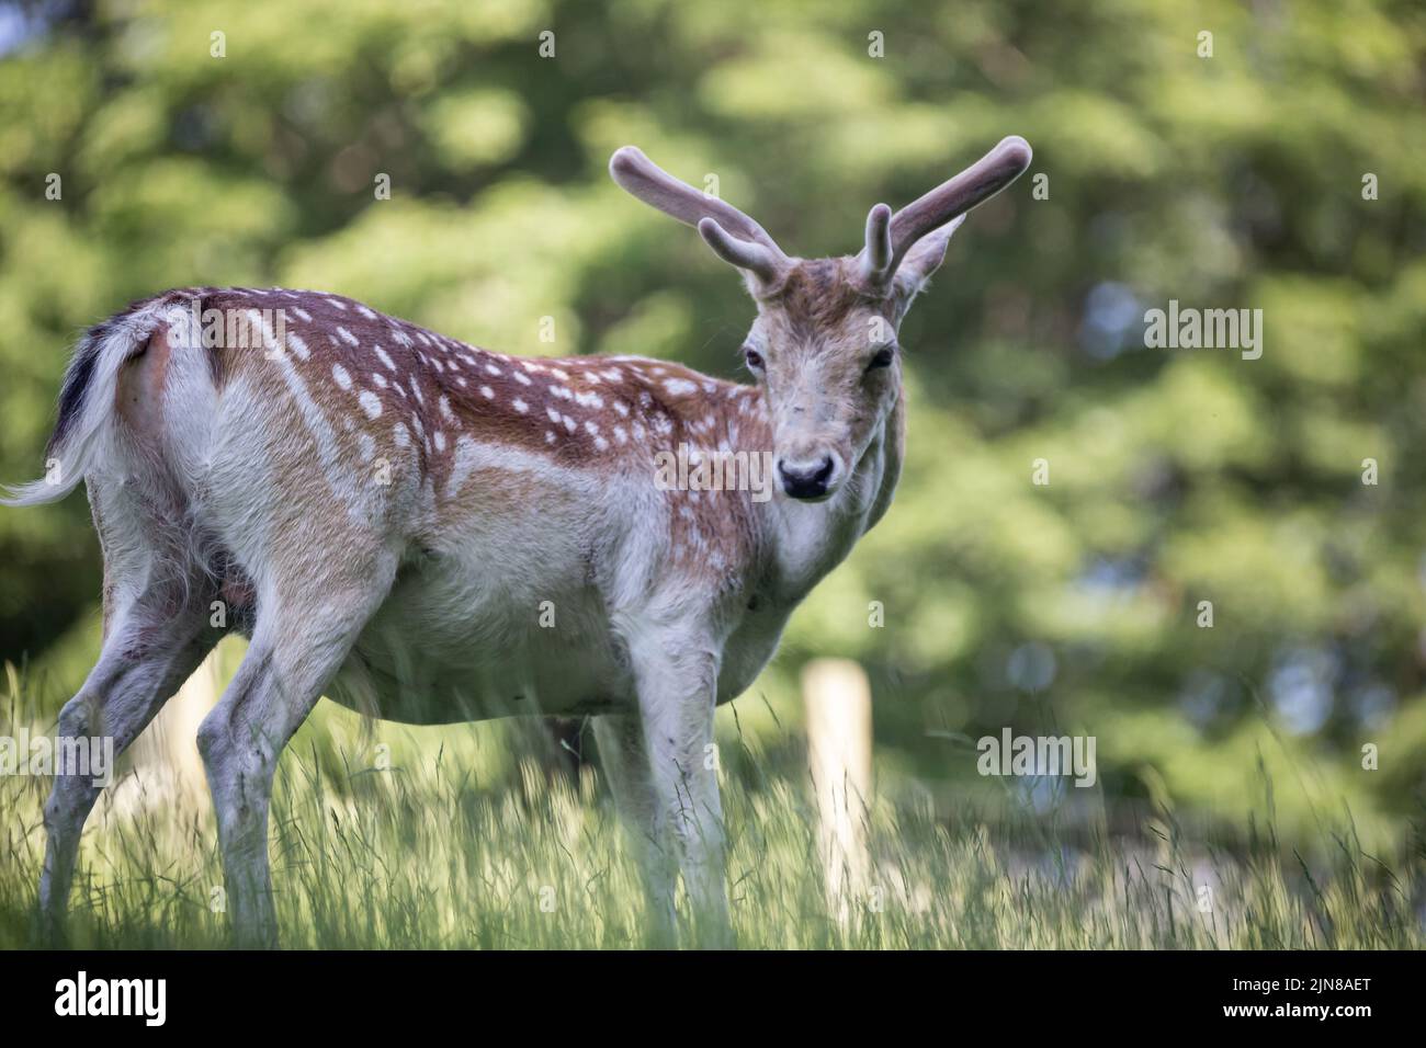
MULTIPOLYGON (((202 662, 217 636, 205 630, 201 615, 165 616, 161 603, 144 595, 117 617, 94 669, 60 711, 60 739, 108 739, 117 760, 202 662)), ((80 836, 104 787, 93 769, 54 771, 44 803, 40 921, 43 935, 61 941, 80 836)))

